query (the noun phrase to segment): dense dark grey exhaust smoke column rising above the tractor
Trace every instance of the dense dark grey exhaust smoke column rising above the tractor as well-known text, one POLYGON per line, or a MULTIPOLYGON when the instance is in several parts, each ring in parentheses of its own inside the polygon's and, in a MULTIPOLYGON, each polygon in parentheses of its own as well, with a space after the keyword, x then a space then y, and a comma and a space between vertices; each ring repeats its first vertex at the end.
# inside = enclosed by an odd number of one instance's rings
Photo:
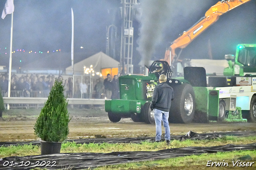
POLYGON ((154 53, 154 47, 162 40, 162 30, 166 26, 170 1, 141 0, 142 14, 138 18, 141 22, 137 50, 142 55, 142 63, 149 65, 154 53))

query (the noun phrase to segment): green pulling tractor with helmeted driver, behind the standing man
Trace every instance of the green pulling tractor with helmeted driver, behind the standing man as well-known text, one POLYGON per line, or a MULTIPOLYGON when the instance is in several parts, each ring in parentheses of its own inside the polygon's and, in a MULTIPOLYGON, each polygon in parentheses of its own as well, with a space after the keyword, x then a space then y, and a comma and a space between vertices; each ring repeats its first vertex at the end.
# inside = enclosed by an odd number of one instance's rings
POLYGON ((154 61, 149 67, 148 76, 124 75, 119 78, 120 99, 105 100, 105 111, 108 112, 110 121, 119 122, 121 118, 132 118, 134 122, 154 123, 150 101, 161 74, 167 75, 167 83, 174 89, 175 99, 172 101, 169 121, 191 122, 195 112, 193 87, 185 79, 172 79, 171 69, 166 61, 154 61))

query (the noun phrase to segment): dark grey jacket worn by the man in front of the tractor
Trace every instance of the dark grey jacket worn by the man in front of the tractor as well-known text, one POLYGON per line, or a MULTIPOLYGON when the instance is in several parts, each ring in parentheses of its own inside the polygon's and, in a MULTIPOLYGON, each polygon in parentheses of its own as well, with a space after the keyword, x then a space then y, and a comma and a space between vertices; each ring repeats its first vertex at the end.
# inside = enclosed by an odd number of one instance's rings
POLYGON ((174 99, 173 89, 166 82, 157 85, 153 91, 150 108, 168 112, 174 99))

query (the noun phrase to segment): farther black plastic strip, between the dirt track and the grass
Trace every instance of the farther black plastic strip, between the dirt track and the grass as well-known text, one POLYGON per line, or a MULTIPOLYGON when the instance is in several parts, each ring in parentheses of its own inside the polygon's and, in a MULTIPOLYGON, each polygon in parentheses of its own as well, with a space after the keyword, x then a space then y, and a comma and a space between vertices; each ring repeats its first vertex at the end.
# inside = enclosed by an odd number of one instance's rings
MULTIPOLYGON (((236 132, 211 132, 211 133, 196 133, 189 131, 186 135, 171 136, 171 140, 203 140, 203 139, 215 139, 220 136, 256 136, 256 131, 236 131, 236 132)), ((140 138, 89 138, 89 139, 71 139, 64 142, 75 142, 78 144, 89 143, 141 143, 144 141, 154 142, 155 137, 140 137, 140 138)), ((162 137, 164 141, 164 137, 162 137)), ((0 146, 22 146, 25 144, 40 145, 39 140, 33 140, 28 142, 0 142, 0 146)))

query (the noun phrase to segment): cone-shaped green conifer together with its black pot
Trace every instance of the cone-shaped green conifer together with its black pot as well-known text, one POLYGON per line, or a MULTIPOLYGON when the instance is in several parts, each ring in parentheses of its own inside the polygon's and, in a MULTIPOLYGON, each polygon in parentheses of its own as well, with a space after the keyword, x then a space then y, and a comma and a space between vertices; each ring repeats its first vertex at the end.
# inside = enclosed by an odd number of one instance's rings
POLYGON ((34 125, 34 133, 41 138, 41 154, 60 153, 61 144, 68 136, 70 118, 63 92, 62 80, 56 80, 34 125))

